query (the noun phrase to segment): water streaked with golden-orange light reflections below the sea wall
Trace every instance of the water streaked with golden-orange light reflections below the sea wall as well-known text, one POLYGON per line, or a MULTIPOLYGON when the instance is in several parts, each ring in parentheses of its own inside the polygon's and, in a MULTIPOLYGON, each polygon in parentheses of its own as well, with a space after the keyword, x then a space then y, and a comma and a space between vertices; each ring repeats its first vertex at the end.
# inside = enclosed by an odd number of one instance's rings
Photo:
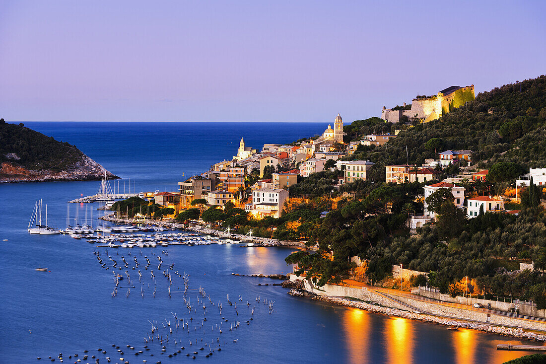
POLYGON ((385 317, 356 308, 339 311, 341 330, 347 349, 347 362, 417 364, 438 362, 456 364, 498 364, 532 352, 498 351, 497 344, 530 344, 509 337, 459 328, 446 330, 440 325, 403 318, 385 317), (431 345, 429 336, 444 340, 447 346, 431 345), (379 350, 383 348, 384 353, 379 350), (429 357, 432 361, 427 360, 429 357))

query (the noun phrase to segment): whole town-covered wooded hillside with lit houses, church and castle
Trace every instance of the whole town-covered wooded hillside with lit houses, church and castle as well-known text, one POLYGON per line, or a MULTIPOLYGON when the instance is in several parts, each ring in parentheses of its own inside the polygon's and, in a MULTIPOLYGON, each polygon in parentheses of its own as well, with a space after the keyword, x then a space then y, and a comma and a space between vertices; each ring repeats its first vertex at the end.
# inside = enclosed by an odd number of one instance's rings
POLYGON ((475 99, 473 86, 452 86, 381 118, 343 125, 338 113, 333 128, 289 144, 242 136, 233 158, 156 193, 157 213, 303 242, 318 252, 287 262, 314 287, 434 287, 443 300, 518 298, 541 315, 545 91, 544 76, 475 99))

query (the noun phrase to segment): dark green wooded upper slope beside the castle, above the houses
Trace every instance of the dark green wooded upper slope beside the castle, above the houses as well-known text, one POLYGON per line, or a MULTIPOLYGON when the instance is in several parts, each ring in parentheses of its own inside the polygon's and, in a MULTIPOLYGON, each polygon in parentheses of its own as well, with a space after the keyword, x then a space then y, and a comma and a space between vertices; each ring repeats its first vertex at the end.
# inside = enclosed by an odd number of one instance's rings
POLYGON ((377 125, 376 119, 353 122, 356 127, 347 128, 351 139, 357 140, 367 132, 406 130, 389 142, 392 148, 357 152, 351 159, 381 165, 421 165, 425 158, 434 158, 435 151, 470 149, 474 161, 483 161, 484 167, 498 161, 533 168, 546 166, 546 75, 521 82, 521 92, 518 84, 510 84, 479 93, 474 101, 437 121, 413 122, 408 127, 403 123, 377 125), (435 140, 428 143, 431 139, 435 140))

